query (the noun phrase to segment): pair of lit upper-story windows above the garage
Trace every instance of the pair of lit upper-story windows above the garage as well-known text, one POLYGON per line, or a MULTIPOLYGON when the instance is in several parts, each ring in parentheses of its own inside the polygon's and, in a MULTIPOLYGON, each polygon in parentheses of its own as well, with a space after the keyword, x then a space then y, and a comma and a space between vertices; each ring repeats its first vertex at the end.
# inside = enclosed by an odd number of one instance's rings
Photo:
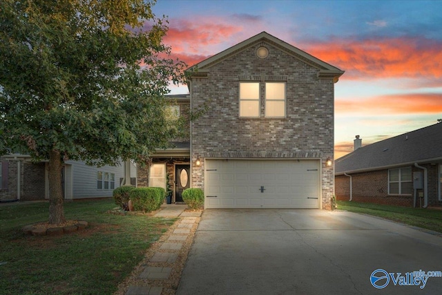
POLYGON ((240 117, 285 117, 285 82, 265 82, 264 114, 261 113, 260 82, 240 82, 240 117))

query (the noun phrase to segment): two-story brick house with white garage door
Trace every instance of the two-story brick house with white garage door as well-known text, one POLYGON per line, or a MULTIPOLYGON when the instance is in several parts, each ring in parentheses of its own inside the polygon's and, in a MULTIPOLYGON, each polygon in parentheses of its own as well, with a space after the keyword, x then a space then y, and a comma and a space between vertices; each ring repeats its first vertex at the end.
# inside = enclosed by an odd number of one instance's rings
POLYGON ((188 69, 189 142, 157 151, 142 185, 204 189, 205 208, 331 208, 334 84, 343 70, 267 32, 188 69), (169 176, 167 175, 169 173, 169 176))

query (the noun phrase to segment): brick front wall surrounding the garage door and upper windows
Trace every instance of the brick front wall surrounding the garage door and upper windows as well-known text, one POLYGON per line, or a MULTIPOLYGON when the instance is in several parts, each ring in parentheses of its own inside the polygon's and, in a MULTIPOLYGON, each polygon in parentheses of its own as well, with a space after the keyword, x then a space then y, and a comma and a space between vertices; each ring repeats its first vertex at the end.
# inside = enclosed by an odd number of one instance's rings
POLYGON ((191 123, 192 187, 203 188, 204 158, 315 158, 322 160, 322 207, 330 209, 334 171, 325 160, 334 158, 334 81, 317 75, 318 68, 260 41, 211 66, 207 77, 193 77, 193 110, 209 108, 191 123), (260 46, 269 49, 265 59, 256 56, 260 46), (286 82, 287 117, 240 118, 239 82, 247 81, 262 82, 261 93, 264 82, 286 82))

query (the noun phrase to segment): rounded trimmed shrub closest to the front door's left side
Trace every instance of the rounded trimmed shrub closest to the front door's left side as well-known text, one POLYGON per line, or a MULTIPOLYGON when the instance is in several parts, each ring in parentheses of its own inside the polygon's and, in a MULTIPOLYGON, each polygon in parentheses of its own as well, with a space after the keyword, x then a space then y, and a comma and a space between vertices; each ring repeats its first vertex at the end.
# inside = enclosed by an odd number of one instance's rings
POLYGON ((135 211, 151 212, 160 209, 166 191, 161 187, 137 187, 129 192, 135 211))

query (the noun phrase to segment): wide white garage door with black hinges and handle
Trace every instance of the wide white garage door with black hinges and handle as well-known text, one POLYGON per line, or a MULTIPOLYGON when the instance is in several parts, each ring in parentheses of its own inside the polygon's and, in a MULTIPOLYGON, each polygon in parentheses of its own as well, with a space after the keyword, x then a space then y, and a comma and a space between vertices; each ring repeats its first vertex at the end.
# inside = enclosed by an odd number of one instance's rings
POLYGON ((206 160, 205 207, 319 208, 319 160, 206 160))

